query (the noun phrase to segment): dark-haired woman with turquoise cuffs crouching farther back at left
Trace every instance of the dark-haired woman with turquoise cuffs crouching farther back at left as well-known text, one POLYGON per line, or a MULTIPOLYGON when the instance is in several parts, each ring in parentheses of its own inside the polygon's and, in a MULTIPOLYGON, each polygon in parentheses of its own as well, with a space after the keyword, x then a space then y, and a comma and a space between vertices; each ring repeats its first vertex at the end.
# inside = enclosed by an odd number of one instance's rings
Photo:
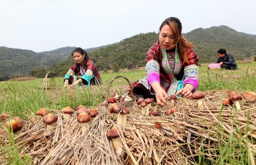
POLYGON ((89 59, 86 51, 77 47, 71 54, 76 63, 69 69, 65 75, 64 86, 75 86, 83 83, 86 86, 100 83, 100 73, 92 60, 89 59), (82 77, 74 81, 74 75, 78 73, 82 77), (74 81, 74 82, 73 82, 74 81))

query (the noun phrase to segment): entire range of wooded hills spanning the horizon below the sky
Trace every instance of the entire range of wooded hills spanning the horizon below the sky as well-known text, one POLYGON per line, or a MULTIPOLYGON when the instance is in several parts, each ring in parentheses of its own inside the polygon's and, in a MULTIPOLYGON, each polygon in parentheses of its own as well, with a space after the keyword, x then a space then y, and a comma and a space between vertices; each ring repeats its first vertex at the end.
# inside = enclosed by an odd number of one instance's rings
MULTIPOLYGON (((199 55, 199 63, 215 62, 218 58, 216 52, 220 48, 232 53, 236 61, 250 59, 251 55, 256 53, 255 36, 238 32, 228 26, 198 28, 184 33, 184 37, 192 42, 196 53, 199 55)), ((157 40, 158 33, 140 33, 118 43, 90 48, 86 51, 100 70, 134 69, 145 66, 144 54, 157 40)), ((44 68, 45 72, 52 71, 57 76, 63 76, 74 63, 70 56, 74 48, 63 47, 36 53, 0 47, 0 60, 3 64, 0 66, 1 73, 28 74, 35 67, 40 67, 44 68)))

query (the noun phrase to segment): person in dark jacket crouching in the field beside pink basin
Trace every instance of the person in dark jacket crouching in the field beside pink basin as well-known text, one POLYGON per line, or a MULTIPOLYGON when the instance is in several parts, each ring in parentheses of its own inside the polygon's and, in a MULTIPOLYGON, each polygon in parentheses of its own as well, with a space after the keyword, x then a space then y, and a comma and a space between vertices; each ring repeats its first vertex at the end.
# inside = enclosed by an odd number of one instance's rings
POLYGON ((228 69, 228 70, 238 69, 232 54, 226 53, 225 49, 219 49, 217 53, 219 54, 220 57, 218 58, 218 61, 216 63, 219 63, 222 69, 228 69))

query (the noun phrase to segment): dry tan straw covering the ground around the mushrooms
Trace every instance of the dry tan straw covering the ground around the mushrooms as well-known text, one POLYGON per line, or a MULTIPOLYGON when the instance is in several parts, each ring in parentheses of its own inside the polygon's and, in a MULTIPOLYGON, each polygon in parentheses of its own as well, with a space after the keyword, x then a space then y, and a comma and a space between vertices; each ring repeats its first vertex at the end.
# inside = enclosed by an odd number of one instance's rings
MULTIPOLYGON (((91 118, 86 134, 82 134, 76 112, 71 118, 66 118, 62 112, 54 110, 52 113, 58 115, 58 121, 52 130, 46 128, 41 117, 28 115, 23 120, 23 133, 15 137, 19 156, 24 157, 25 152, 34 164, 198 164, 202 147, 209 149, 202 155, 215 162, 218 143, 225 144, 222 139, 233 134, 240 138, 241 145, 249 146, 252 163, 256 143, 246 139, 256 139, 256 101, 241 101, 242 109, 239 111, 229 106, 220 112, 222 100, 228 97, 230 91, 206 91, 204 94, 202 108, 197 108, 196 102, 187 98, 179 98, 174 104, 167 102, 164 107, 154 103, 152 110, 158 110, 159 116, 142 116, 140 107, 134 101, 128 107, 130 114, 126 126, 121 128, 124 151, 120 157, 116 156, 112 141, 106 138, 113 126, 120 129, 115 118, 109 114, 108 107, 94 107, 100 113, 91 118), (173 106, 178 110, 168 115, 167 110, 173 106), (247 120, 250 129, 246 133, 247 120), (154 129, 155 121, 162 122, 160 132, 154 129), (218 130, 220 127, 223 129, 221 133, 218 130)), ((5 121, 2 118, 2 123, 5 121)), ((0 145, 4 145, 10 139, 2 128, 0 132, 0 145)), ((3 153, 2 149, 0 153, 3 153)), ((0 164, 7 157, 7 154, 1 154, 0 164)))

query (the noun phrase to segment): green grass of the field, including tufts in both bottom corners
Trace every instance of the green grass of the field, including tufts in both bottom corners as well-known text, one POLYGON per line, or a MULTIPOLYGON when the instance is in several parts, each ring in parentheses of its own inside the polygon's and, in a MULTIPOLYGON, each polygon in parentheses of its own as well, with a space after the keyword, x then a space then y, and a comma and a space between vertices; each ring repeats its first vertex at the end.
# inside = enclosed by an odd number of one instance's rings
MULTIPOLYGON (((238 71, 228 70, 208 70, 207 66, 199 67, 199 82, 198 90, 232 90, 238 92, 256 91, 256 63, 240 64, 238 71)), ((12 112, 17 116, 23 117, 24 113, 35 112, 43 108, 60 110, 65 106, 76 107, 78 105, 96 106, 101 103, 106 94, 106 88, 109 82, 117 75, 127 77, 131 82, 137 81, 145 76, 145 71, 121 72, 121 73, 104 73, 101 75, 102 85, 90 86, 90 88, 79 90, 75 88, 76 98, 69 96, 67 89, 62 89, 64 82, 63 78, 55 78, 57 90, 52 92, 41 91, 38 86, 42 79, 31 81, 14 81, 14 82, 1 82, 0 83, 0 112, 12 112)), ((122 91, 122 85, 128 85, 124 79, 118 79, 112 83, 110 89, 122 91)), ((121 93, 121 92, 120 92, 121 93)), ((255 131, 256 123, 254 123, 255 131)), ((218 133, 224 131, 222 127, 218 133)), ((227 143, 219 144, 219 158, 216 162, 209 162, 204 159, 203 153, 207 152, 204 148, 201 150, 201 155, 198 156, 198 163, 200 164, 250 164, 248 154, 248 147, 239 145, 239 136, 233 141, 233 134, 230 137, 222 137, 227 143), (234 145, 236 144, 236 145, 234 145), (236 155, 234 157, 234 155, 236 155)), ((1 139, 0 139, 1 140, 1 139)), ((249 139, 252 141, 254 139, 249 139)), ((29 157, 25 160, 18 158, 15 145, 11 145, 12 139, 9 144, 1 146, 5 152, 9 153, 8 161, 11 164, 21 164, 27 162, 31 163, 29 157)), ((254 158, 255 158, 255 153, 254 158)))

